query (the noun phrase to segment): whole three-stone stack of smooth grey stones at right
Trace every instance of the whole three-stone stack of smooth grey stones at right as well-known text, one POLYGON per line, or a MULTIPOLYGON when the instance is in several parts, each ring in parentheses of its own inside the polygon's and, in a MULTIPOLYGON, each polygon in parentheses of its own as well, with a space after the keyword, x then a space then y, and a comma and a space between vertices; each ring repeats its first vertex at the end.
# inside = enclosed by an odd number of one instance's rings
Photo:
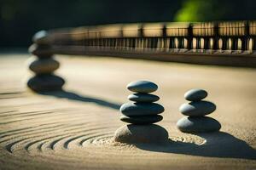
POLYGON ((212 102, 202 100, 207 97, 203 89, 191 89, 184 94, 185 99, 191 101, 179 107, 179 111, 186 117, 177 122, 177 128, 183 133, 207 133, 218 131, 220 123, 206 115, 216 110, 212 102))

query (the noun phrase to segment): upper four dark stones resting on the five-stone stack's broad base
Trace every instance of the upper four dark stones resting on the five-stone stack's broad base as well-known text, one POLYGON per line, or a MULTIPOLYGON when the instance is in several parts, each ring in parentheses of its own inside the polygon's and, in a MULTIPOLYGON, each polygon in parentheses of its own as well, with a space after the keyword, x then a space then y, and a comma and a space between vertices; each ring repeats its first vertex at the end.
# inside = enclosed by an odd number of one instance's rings
POLYGON ((131 82, 127 88, 137 94, 128 96, 133 103, 126 103, 120 107, 120 111, 124 115, 120 117, 121 121, 132 124, 151 124, 163 119, 163 116, 159 114, 165 111, 164 107, 154 103, 160 98, 154 94, 148 94, 157 90, 158 87, 154 82, 131 82))

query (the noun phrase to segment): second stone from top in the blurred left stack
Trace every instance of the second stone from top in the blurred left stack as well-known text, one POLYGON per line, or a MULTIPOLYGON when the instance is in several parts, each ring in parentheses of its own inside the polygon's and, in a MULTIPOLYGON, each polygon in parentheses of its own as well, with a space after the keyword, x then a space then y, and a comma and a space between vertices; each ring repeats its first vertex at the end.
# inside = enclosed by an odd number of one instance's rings
POLYGON ((49 58, 54 54, 49 45, 36 43, 28 48, 28 52, 36 55, 38 58, 49 58))

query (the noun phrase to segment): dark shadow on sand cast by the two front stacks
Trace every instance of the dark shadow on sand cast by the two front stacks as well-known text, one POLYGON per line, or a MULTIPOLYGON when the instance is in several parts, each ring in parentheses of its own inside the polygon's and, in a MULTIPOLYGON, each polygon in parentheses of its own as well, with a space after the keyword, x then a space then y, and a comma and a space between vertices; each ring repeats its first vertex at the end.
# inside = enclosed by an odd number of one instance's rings
POLYGON ((170 139, 169 142, 161 145, 135 145, 137 146, 137 148, 142 150, 165 153, 256 160, 256 150, 250 147, 243 140, 237 139, 229 133, 196 133, 195 135, 206 139, 207 143, 198 145, 192 143, 176 142, 170 139))

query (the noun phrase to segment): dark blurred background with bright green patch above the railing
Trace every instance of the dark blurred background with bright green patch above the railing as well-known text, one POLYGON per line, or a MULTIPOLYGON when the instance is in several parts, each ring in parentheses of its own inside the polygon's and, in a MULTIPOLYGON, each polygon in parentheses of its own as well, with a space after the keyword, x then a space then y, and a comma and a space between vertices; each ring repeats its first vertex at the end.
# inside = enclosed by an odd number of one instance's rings
POLYGON ((0 47, 26 47, 36 31, 109 23, 254 20, 254 0, 0 0, 0 47))

